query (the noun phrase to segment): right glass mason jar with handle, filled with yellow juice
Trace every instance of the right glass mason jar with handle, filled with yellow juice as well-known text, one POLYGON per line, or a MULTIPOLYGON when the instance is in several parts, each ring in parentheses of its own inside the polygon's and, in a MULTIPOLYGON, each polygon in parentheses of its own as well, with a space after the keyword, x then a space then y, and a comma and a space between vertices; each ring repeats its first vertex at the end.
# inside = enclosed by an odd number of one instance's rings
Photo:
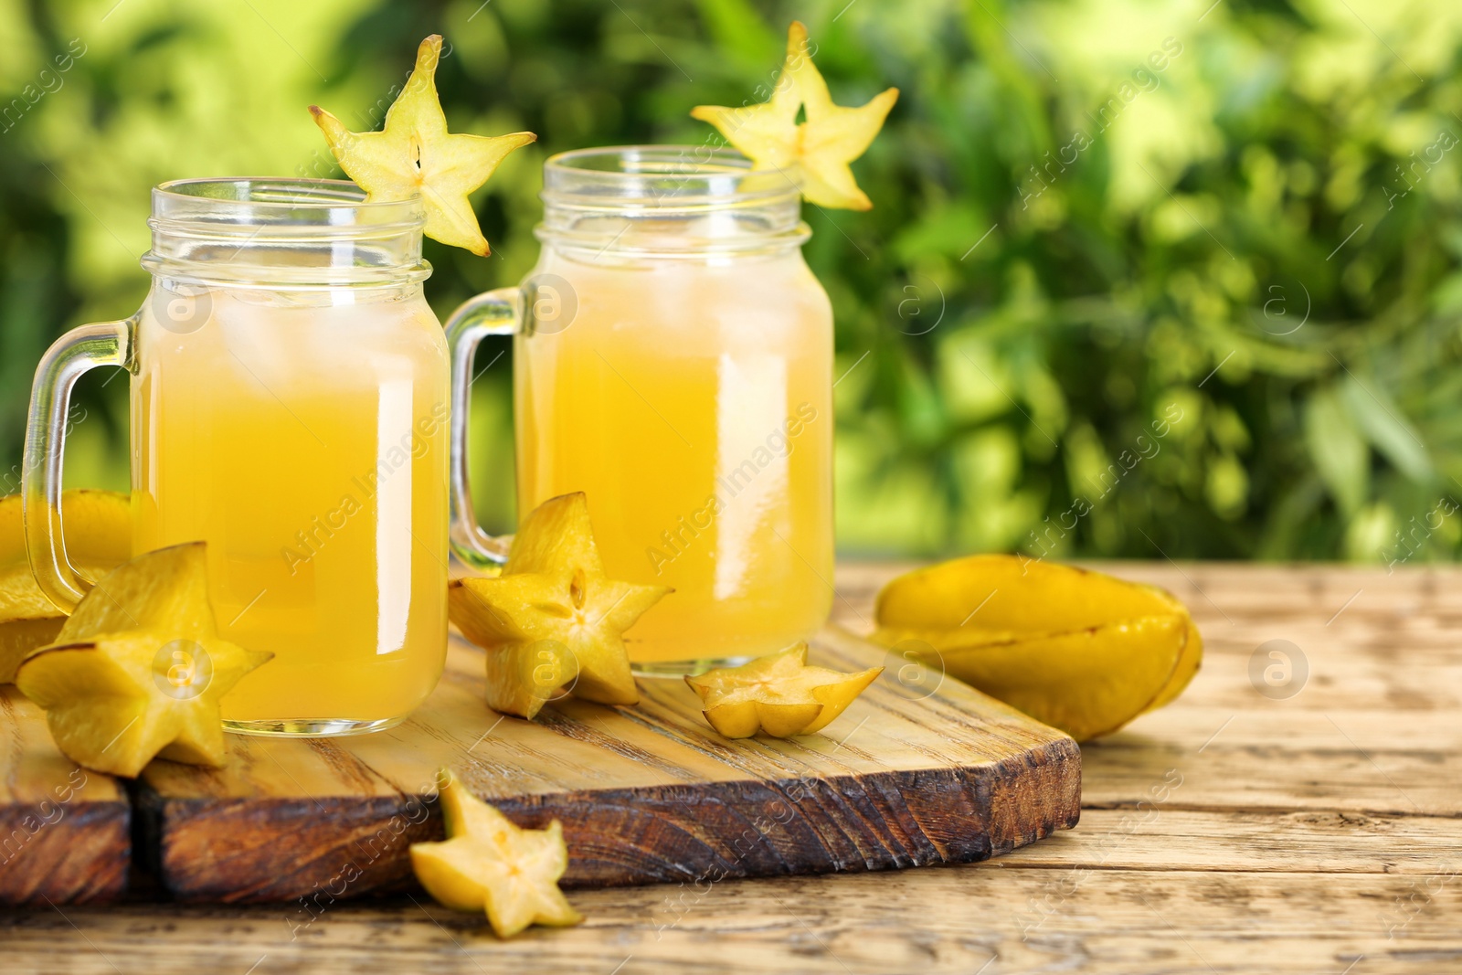
POLYGON ((781 174, 735 152, 629 146, 544 170, 542 251, 463 304, 453 348, 453 550, 506 557, 472 515, 468 386, 513 333, 518 510, 570 491, 611 577, 674 588, 627 634, 642 674, 810 637, 832 608, 832 308, 781 174))

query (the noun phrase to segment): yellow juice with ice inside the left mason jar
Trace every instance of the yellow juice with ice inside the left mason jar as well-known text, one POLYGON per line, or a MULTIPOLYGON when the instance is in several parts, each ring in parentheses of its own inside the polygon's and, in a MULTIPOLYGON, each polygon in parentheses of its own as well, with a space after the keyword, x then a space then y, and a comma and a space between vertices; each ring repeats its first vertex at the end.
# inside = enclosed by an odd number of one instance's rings
POLYGON ((275 655, 228 722, 398 719, 442 672, 442 329, 420 291, 316 294, 213 289, 137 330, 135 548, 206 541, 222 634, 275 655))

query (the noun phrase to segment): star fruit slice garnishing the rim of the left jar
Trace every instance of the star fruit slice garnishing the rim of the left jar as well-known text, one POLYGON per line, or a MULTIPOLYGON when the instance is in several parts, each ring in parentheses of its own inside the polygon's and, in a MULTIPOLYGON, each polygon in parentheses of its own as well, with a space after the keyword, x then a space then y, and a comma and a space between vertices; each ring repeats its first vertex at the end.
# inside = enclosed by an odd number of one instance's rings
POLYGON ((468 193, 487 183, 509 152, 538 136, 531 132, 507 136, 449 133, 437 98, 440 60, 442 35, 433 34, 417 48, 417 66, 386 111, 380 132, 351 132, 317 105, 310 105, 310 114, 325 132, 341 168, 366 190, 367 202, 405 200, 420 193, 427 210, 427 237, 485 257, 487 238, 468 193))

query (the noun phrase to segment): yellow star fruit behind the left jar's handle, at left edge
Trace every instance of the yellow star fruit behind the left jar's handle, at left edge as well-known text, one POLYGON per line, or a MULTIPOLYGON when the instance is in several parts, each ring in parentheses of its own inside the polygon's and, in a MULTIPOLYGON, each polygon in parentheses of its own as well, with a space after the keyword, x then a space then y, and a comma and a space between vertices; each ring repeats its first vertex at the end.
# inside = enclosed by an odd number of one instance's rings
MULTIPOLYGON (((126 494, 73 490, 61 494, 66 553, 89 579, 132 555, 132 513, 126 494)), ((26 653, 61 631, 66 614, 45 598, 25 551, 20 496, 0 498, 0 684, 15 680, 26 653)))

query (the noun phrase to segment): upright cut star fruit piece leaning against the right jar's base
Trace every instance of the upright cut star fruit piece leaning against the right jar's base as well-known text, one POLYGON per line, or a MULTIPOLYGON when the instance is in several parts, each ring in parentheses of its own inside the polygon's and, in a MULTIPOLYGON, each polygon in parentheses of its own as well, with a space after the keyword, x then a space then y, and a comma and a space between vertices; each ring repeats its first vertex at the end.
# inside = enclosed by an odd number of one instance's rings
POLYGON ((452 580, 447 608, 487 649, 488 706, 532 718, 564 684, 602 705, 637 702, 624 631, 667 592, 605 576, 579 491, 534 509, 503 574, 452 580))

